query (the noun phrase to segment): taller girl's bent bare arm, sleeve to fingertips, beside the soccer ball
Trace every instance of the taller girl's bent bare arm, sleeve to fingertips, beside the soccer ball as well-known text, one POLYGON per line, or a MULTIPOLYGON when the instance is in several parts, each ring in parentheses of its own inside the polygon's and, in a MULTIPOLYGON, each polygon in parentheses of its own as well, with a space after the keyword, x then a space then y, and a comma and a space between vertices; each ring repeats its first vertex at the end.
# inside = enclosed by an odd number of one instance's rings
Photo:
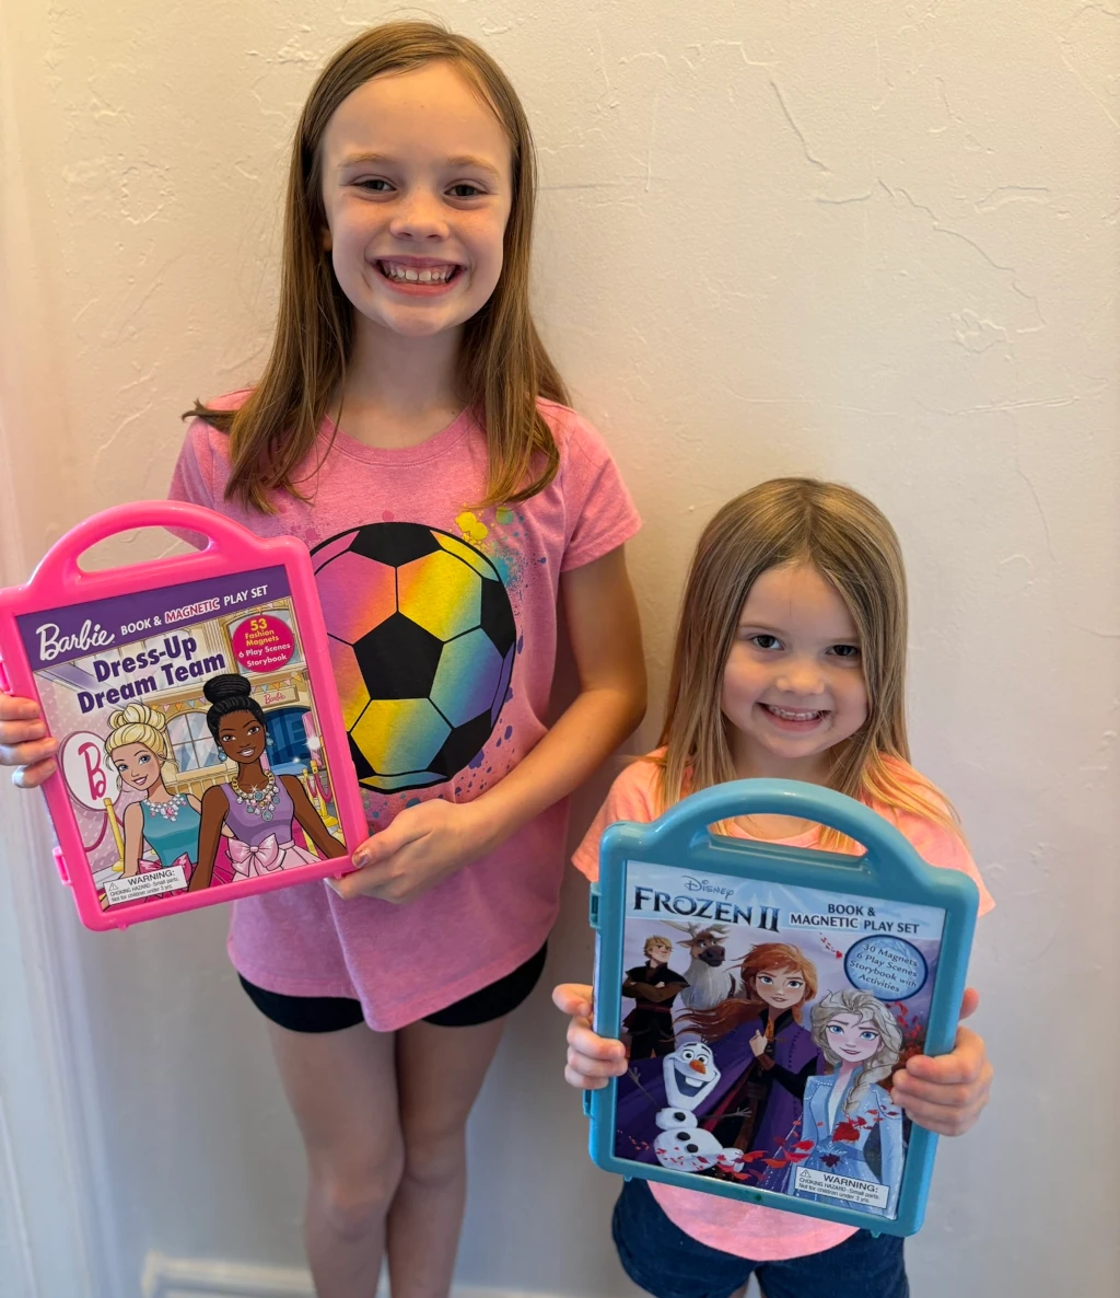
POLYGON ((561 578, 580 692, 536 748, 467 803, 433 798, 408 807, 354 853, 362 868, 332 887, 341 897, 404 902, 493 851, 578 788, 645 711, 637 605, 619 546, 561 578))

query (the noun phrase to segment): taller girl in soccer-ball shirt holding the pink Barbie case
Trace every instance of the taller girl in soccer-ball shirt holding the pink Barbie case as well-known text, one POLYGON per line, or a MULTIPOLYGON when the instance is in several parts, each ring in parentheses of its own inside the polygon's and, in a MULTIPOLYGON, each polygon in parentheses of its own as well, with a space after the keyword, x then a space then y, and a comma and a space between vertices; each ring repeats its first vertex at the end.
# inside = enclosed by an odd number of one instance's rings
MULTIPOLYGON (((393 1298, 448 1293, 466 1118, 544 964, 563 800, 645 706, 639 520, 530 315, 533 193, 524 112, 478 45, 402 22, 341 49, 296 129, 265 373, 196 409, 171 488, 324 546, 376 831, 334 892, 232 912, 306 1145, 318 1298, 369 1298, 384 1251, 393 1298), (580 692, 549 729, 558 600, 580 692)), ((0 700, 25 787, 53 770, 44 733, 0 700)))

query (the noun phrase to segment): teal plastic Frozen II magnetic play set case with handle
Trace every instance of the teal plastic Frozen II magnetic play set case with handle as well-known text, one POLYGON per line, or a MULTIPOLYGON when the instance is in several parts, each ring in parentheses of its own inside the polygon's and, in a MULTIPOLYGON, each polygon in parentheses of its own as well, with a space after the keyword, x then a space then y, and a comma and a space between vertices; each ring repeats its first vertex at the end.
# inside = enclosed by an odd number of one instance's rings
POLYGON ((740 780, 610 826, 590 898, 594 1024, 631 1059, 585 1093, 592 1159, 914 1234, 937 1137, 880 1081, 953 1049, 977 906, 972 879, 816 785, 740 780), (764 814, 831 826, 864 853, 712 832, 764 814))

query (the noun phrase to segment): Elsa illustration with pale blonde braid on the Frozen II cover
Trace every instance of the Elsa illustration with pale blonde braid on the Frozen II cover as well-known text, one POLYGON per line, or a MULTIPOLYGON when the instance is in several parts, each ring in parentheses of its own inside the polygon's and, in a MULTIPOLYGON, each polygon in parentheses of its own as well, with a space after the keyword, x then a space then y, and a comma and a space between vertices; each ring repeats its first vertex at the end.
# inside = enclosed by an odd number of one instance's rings
MULTIPOLYGON (((816 1203, 844 1205, 879 1216, 894 1216, 902 1182, 902 1111, 884 1081, 902 1049, 902 1031, 890 1010, 871 992, 831 992, 814 1006, 812 1040, 832 1072, 810 1077, 805 1088, 802 1138, 812 1141, 807 1158, 790 1171, 786 1193, 816 1203), (798 1188, 805 1169, 863 1181, 885 1203, 798 1188)), ((818 1177, 812 1177, 818 1180, 818 1177)))

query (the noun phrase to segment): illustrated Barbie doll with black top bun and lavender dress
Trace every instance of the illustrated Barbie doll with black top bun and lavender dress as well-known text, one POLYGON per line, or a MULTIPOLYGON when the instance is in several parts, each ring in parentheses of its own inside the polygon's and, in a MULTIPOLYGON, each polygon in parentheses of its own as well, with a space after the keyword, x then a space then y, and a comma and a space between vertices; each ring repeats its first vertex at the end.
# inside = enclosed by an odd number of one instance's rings
POLYGON ((293 820, 324 859, 343 855, 345 848, 323 824, 298 779, 295 775, 278 778, 261 766, 267 729, 249 681, 232 674, 212 676, 202 692, 212 704, 206 724, 226 757, 236 762, 237 774, 228 784, 215 784, 202 794, 199 863, 191 892, 210 887, 223 828, 234 835, 227 846, 235 881, 291 870, 315 859, 313 853, 293 842, 293 820))

